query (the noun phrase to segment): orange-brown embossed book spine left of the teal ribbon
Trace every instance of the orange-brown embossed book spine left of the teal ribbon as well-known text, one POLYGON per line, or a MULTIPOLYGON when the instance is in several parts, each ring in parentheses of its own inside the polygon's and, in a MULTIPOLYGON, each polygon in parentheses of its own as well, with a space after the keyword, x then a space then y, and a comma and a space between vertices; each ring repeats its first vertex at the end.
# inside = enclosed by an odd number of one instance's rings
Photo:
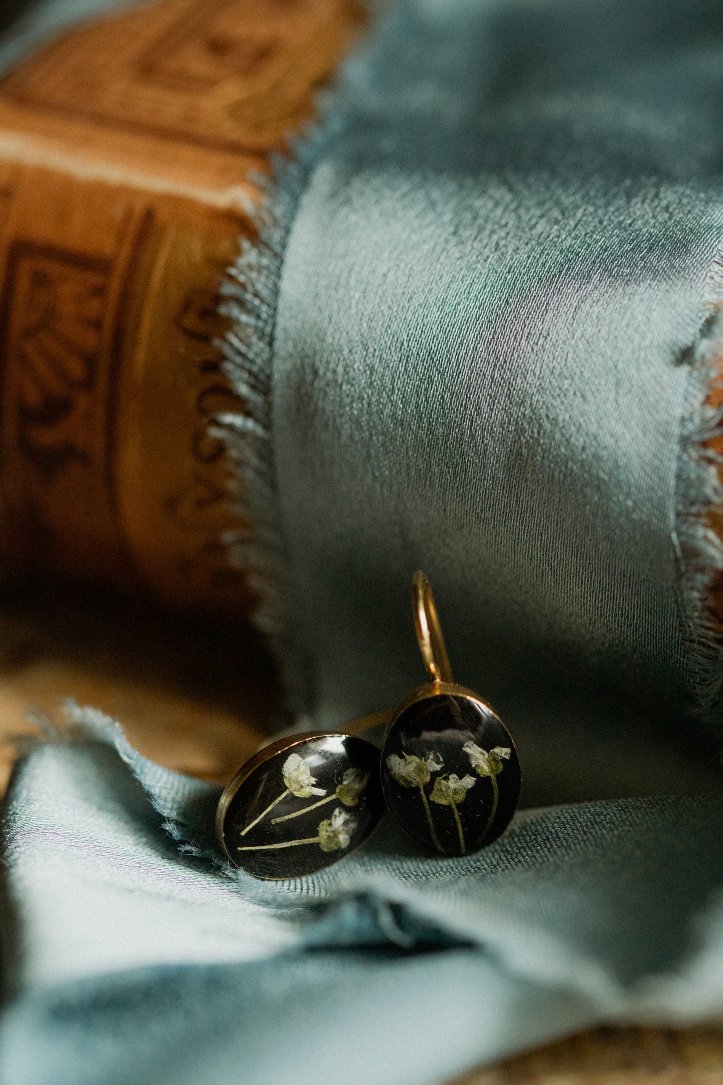
POLYGON ((229 566, 228 464, 243 409, 216 345, 240 214, 41 166, 2 169, 2 551, 16 567, 215 613, 251 604, 229 566))

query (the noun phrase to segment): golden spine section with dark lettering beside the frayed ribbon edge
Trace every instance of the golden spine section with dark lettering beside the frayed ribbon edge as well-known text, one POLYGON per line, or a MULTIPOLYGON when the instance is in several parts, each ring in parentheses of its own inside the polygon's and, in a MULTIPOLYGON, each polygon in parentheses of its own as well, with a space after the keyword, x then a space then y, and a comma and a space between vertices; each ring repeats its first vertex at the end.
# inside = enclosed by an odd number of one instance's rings
POLYGON ((178 219, 150 229, 129 292, 138 333, 126 343, 115 420, 118 510, 137 563, 164 598, 230 615, 253 600, 222 545, 241 525, 224 450, 207 429, 219 411, 243 410, 216 342, 225 330, 218 283, 245 228, 218 218, 204 231, 178 219))

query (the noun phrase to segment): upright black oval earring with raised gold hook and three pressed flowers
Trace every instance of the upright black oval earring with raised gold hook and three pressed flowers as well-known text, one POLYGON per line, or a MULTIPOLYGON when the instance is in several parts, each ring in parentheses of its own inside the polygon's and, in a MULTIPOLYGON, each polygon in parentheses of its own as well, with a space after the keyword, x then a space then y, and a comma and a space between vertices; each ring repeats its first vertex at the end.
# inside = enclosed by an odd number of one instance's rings
POLYGON ((467 855, 509 825, 519 799, 519 762, 492 709, 453 681, 424 573, 414 574, 412 601, 431 680, 392 714, 382 749, 382 787, 410 837, 441 855, 467 855))

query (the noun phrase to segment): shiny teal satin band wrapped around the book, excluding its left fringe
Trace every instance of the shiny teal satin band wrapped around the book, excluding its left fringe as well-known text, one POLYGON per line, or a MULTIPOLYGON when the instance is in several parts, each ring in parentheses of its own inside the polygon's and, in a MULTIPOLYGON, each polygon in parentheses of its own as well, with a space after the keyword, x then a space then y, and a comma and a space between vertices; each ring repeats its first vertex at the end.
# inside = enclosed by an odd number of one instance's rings
POLYGON ((715 715, 718 11, 410 0, 348 65, 271 374, 318 722, 422 680, 417 567, 503 711, 577 686, 715 715))

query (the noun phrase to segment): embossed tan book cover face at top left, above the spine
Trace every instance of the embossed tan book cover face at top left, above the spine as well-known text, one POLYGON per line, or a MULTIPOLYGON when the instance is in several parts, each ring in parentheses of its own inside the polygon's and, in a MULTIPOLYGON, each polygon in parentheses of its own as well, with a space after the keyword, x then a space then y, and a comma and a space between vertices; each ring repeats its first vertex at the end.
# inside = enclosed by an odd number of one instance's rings
POLYGON ((280 146, 359 22, 349 0, 162 0, 66 35, 4 81, 43 111, 199 146, 280 146))

